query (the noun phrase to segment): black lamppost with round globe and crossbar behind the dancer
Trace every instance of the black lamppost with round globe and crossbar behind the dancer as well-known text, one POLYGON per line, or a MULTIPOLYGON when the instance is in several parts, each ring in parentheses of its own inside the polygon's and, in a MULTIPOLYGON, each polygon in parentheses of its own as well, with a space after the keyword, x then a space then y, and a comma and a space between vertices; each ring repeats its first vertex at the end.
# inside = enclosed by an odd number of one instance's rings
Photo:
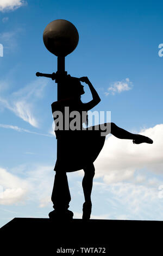
MULTIPOLYGON (((58 70, 53 74, 36 73, 36 76, 52 78, 58 84, 58 100, 62 99, 64 92, 65 57, 77 47, 79 34, 76 27, 66 20, 54 20, 50 22, 43 32, 43 42, 47 50, 58 57, 58 70)), ((57 159, 59 158, 60 139, 57 139, 57 159)), ((49 213, 51 219, 72 219, 73 212, 68 210, 71 200, 66 172, 56 172, 52 192, 54 211, 49 213)))

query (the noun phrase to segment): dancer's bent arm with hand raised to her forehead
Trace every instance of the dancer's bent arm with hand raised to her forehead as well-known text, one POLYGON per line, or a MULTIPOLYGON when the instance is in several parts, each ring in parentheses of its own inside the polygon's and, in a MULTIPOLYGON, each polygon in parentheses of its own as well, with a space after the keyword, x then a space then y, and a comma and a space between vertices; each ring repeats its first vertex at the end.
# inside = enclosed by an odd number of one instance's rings
POLYGON ((96 92, 95 88, 92 86, 91 82, 89 81, 89 78, 87 78, 86 76, 83 76, 83 77, 80 77, 79 79, 80 79, 80 81, 88 84, 91 94, 92 94, 93 99, 87 103, 83 103, 84 110, 87 111, 87 110, 90 110, 93 107, 95 107, 101 101, 101 99, 100 99, 98 93, 96 92))

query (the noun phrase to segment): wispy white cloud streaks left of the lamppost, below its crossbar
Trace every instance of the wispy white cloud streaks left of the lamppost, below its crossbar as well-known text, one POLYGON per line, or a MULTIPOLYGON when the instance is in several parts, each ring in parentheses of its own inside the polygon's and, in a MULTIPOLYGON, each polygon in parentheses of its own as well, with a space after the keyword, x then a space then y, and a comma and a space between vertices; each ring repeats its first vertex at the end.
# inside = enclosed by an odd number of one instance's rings
POLYGON ((37 78, 37 80, 12 93, 8 99, 0 97, 0 105, 3 108, 9 109, 30 125, 38 127, 39 121, 33 114, 34 104, 37 99, 43 96, 43 89, 47 84, 48 80, 37 78))

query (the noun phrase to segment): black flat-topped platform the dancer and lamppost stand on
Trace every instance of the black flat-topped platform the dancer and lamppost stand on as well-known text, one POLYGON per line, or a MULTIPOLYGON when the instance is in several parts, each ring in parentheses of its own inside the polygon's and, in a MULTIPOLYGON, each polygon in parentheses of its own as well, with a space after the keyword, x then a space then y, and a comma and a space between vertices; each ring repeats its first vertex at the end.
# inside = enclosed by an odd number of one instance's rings
POLYGON ((160 255, 162 228, 162 221, 14 218, 0 229, 1 255, 160 255))

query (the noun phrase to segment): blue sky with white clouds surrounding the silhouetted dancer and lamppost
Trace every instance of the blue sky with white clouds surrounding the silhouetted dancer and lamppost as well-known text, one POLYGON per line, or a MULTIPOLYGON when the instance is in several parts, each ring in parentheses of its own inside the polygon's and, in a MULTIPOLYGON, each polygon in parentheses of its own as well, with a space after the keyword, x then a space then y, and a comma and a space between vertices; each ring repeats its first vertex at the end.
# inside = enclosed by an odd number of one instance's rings
MULTIPOLYGON (((0 226, 14 217, 48 217, 53 210, 57 141, 51 103, 57 86, 35 72, 57 71, 57 57, 42 40, 56 19, 78 29, 66 71, 89 77, 101 97, 95 110, 111 111, 118 126, 154 141, 106 139, 95 162, 92 218, 162 220, 162 2, 2 0, 0 226)), ((82 100, 91 100, 86 85, 82 100)), ((82 176, 82 170, 68 174, 76 218, 82 216, 82 176)))

